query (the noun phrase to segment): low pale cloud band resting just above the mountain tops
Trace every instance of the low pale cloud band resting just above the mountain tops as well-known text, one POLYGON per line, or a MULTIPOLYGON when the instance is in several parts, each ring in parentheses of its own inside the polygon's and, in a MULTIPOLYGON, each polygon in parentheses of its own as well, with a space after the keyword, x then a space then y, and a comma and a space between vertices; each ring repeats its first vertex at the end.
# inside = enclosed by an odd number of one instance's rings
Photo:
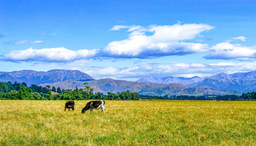
POLYGON ((216 64, 195 64, 173 62, 170 64, 156 64, 140 62, 129 67, 83 66, 65 65, 65 69, 76 69, 85 72, 95 79, 113 78, 116 80, 136 81, 142 77, 205 77, 224 72, 227 74, 249 72, 256 70, 256 62, 218 62, 216 64))

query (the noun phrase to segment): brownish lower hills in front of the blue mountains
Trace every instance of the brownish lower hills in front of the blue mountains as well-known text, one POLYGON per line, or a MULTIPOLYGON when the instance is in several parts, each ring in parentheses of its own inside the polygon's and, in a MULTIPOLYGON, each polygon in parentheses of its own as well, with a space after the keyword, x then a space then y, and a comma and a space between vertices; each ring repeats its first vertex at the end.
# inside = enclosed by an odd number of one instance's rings
MULTIPOLYGON (((50 85, 51 87, 60 87, 61 89, 84 88, 84 82, 67 80, 63 82, 54 82, 52 84, 42 84, 42 87, 50 85)), ((108 92, 117 93, 124 91, 138 92, 143 95, 226 95, 239 94, 239 92, 231 91, 215 91, 210 88, 203 87, 187 87, 181 84, 149 84, 141 82, 132 82, 124 80, 113 80, 105 78, 100 80, 88 81, 89 86, 94 89, 94 92, 107 94, 108 92)))

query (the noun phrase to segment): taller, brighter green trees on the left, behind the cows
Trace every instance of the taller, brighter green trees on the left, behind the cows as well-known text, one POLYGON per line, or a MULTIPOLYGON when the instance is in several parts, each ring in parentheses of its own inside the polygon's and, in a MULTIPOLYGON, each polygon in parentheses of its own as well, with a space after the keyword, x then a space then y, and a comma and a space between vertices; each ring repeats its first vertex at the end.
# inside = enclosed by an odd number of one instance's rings
POLYGON ((100 92, 93 93, 94 90, 88 86, 87 82, 84 82, 84 89, 57 89, 55 87, 50 88, 49 85, 41 87, 38 85, 31 85, 27 87, 25 82, 14 84, 11 82, 0 82, 0 99, 6 100, 89 100, 89 99, 105 99, 105 100, 138 100, 139 93, 125 92, 110 93, 104 95, 100 92), (52 94, 57 92, 58 94, 52 94))

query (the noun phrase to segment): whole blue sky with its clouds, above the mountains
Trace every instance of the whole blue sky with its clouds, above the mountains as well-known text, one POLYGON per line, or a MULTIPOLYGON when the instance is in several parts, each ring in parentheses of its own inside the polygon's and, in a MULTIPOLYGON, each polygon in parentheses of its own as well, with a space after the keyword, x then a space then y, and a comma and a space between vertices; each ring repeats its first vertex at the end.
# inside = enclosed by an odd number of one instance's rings
POLYGON ((0 3, 0 71, 80 70, 95 79, 256 70, 254 0, 0 3))

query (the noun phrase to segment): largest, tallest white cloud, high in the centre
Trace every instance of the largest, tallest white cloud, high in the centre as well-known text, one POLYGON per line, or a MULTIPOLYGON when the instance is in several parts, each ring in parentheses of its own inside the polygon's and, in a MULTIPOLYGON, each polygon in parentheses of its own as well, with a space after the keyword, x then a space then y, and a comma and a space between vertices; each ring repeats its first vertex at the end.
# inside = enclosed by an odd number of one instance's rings
POLYGON ((208 51, 207 44, 186 43, 203 31, 214 27, 207 24, 174 24, 148 27, 114 26, 110 30, 128 29, 128 39, 113 41, 104 47, 102 56, 115 58, 157 58, 167 55, 187 55, 208 51), (151 33, 151 35, 146 35, 151 33))

